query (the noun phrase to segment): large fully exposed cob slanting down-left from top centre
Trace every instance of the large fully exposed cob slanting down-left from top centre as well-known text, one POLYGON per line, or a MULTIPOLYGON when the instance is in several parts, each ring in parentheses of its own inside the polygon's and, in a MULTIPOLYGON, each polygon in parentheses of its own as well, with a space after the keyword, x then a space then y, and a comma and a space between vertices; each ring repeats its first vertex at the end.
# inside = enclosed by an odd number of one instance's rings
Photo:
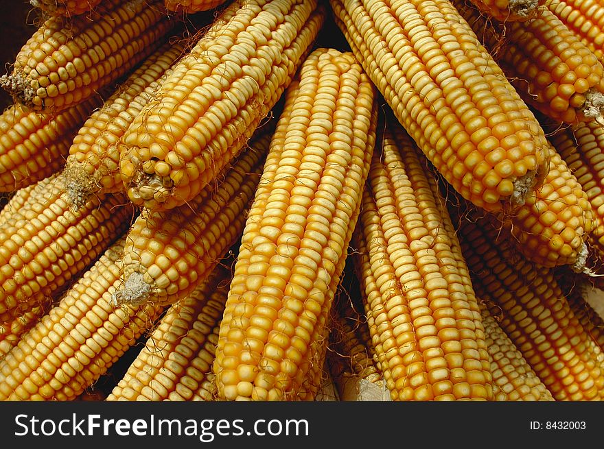
POLYGON ((120 145, 128 197, 181 206, 236 156, 310 51, 316 0, 237 0, 176 66, 120 145))

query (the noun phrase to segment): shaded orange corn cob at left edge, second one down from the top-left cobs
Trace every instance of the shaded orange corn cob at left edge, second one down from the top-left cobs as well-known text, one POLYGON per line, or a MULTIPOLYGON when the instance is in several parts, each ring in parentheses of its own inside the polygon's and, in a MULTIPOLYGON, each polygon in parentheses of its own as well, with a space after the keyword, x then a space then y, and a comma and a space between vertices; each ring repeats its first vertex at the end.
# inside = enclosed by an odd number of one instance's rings
POLYGON ((100 104, 94 95, 56 115, 19 104, 5 110, 0 116, 0 191, 16 191, 60 171, 73 136, 100 104))

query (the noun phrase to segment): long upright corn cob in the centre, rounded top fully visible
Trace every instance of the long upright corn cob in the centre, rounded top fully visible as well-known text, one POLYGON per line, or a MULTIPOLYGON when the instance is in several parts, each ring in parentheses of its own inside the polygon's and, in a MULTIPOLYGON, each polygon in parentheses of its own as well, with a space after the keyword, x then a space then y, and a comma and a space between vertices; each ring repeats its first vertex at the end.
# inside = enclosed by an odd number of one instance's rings
POLYGON ((332 49, 288 88, 220 326, 219 398, 312 396, 375 145, 374 95, 353 55, 332 49))

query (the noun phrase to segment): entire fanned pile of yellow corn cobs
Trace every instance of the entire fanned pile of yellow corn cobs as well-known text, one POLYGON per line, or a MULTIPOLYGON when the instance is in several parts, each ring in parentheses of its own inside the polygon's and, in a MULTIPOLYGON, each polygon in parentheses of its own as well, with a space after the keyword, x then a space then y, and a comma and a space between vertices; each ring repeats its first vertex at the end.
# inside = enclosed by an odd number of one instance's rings
POLYGON ((174 11, 222 2, 37 0, 0 80, 0 400, 318 400, 327 365, 343 399, 604 399, 603 321, 553 271, 604 274, 604 8, 476 0, 498 45, 456 1, 330 0, 348 52, 317 0, 191 40, 174 11))

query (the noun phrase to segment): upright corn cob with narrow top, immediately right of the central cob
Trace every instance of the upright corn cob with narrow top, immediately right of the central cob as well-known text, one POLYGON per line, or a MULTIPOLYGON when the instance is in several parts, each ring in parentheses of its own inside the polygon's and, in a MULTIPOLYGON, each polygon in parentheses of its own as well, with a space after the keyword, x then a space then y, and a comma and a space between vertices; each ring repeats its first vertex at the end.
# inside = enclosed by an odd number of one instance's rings
POLYGON ((387 121, 353 241, 386 386, 393 400, 491 400, 478 302, 444 200, 413 141, 387 121))

